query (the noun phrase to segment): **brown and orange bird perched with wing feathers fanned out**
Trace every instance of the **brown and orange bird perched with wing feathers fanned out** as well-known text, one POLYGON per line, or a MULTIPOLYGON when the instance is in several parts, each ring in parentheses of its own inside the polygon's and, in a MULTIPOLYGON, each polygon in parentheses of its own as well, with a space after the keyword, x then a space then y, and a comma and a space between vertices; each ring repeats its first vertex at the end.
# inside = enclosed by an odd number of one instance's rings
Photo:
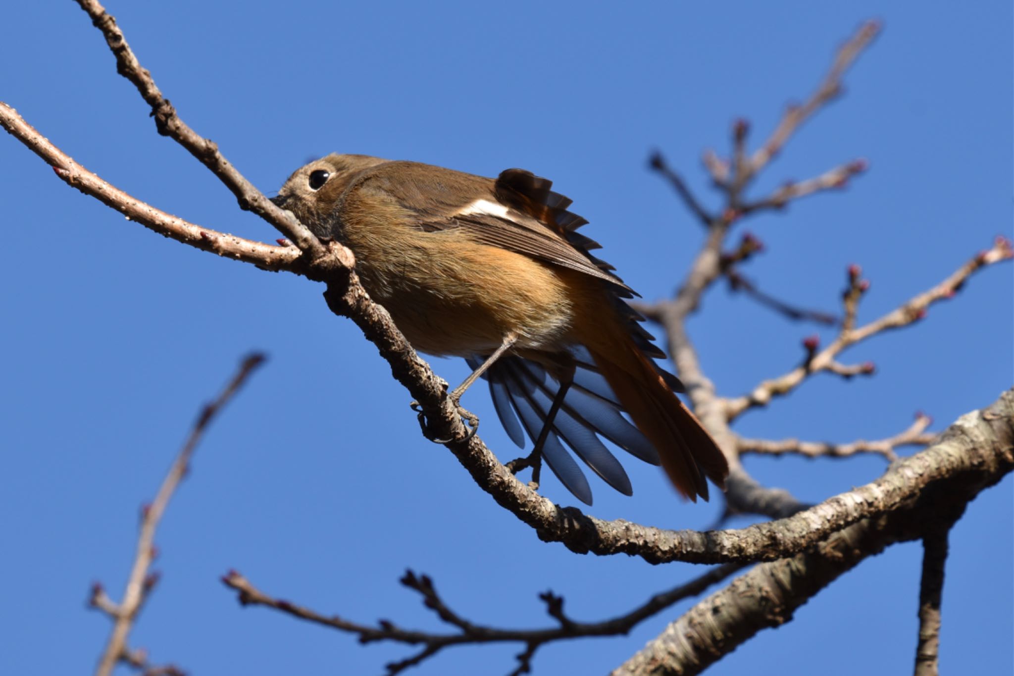
POLYGON ((599 437, 707 500, 708 478, 724 487, 725 457, 653 361, 665 355, 623 300, 633 291, 589 253, 599 245, 577 232, 587 221, 551 186, 521 169, 493 179, 333 154, 297 169, 273 202, 352 249, 363 286, 413 347, 465 358, 476 372, 455 403, 482 375, 510 438, 523 447, 523 428, 579 500, 590 505, 591 489, 563 443, 633 493, 599 437))

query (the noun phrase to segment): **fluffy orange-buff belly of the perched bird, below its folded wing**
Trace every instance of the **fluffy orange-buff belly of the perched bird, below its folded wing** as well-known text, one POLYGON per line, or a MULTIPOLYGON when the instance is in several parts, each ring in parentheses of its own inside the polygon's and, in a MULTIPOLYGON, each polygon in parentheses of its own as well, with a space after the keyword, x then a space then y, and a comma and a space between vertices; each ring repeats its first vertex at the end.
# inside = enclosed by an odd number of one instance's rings
POLYGON ((387 265, 369 251, 356 255, 363 286, 420 352, 486 355, 510 333, 517 350, 556 352, 568 343, 570 271, 463 241, 382 255, 387 265))

